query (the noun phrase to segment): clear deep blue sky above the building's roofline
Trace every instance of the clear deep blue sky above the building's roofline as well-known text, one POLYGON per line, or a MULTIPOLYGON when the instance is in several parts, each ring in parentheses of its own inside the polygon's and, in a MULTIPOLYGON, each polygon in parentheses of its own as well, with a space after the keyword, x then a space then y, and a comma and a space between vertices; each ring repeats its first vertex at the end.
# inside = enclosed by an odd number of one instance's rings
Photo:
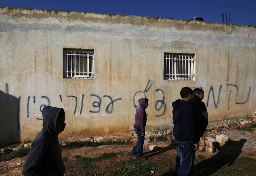
POLYGON ((3 7, 24 7, 65 11, 89 11, 221 22, 222 12, 232 11, 231 24, 256 25, 255 0, 0 0, 3 7))

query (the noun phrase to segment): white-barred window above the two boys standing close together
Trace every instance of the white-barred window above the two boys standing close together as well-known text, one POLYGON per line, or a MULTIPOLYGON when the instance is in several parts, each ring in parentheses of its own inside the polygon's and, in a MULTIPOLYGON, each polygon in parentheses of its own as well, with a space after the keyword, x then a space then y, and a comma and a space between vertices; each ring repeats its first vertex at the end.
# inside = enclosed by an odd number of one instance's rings
POLYGON ((164 53, 164 80, 193 80, 195 54, 164 53))

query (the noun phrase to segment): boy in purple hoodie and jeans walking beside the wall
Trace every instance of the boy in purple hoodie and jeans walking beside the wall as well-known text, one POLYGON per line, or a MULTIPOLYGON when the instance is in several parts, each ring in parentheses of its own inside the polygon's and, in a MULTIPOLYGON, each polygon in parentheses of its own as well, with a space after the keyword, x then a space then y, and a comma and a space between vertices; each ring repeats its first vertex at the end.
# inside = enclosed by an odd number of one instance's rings
POLYGON ((145 140, 145 127, 147 123, 147 113, 146 108, 148 108, 148 99, 147 98, 140 98, 139 99, 140 107, 136 110, 135 117, 134 117, 134 131, 137 134, 138 141, 135 143, 134 147, 132 148, 131 153, 133 155, 136 154, 136 159, 139 160, 146 160, 147 158, 142 157, 143 152, 143 144, 145 140))

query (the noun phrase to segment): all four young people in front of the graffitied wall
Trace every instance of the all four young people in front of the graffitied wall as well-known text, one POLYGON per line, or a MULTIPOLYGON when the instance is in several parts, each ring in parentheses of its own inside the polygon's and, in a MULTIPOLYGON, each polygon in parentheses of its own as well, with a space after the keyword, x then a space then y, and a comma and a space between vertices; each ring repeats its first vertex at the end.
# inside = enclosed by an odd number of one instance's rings
MULTIPOLYGON (((204 91, 199 88, 192 90, 184 87, 180 91, 181 100, 172 103, 173 135, 177 145, 175 176, 193 174, 193 163, 198 142, 203 136, 208 124, 207 109, 202 102, 204 91)), ((146 108, 148 99, 140 98, 140 107, 136 110, 134 131, 138 141, 132 148, 131 154, 136 159, 146 160, 143 157, 145 127, 147 123, 146 108)), ((65 129, 65 112, 62 108, 44 106, 43 130, 34 141, 23 166, 25 176, 63 176, 65 166, 61 157, 58 135, 65 129)))

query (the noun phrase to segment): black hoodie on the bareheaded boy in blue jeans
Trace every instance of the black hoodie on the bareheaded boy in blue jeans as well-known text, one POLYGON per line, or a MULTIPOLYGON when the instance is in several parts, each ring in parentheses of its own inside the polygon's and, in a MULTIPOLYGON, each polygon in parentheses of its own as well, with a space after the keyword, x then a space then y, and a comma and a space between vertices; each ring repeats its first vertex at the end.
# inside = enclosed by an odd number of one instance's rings
POLYGON ((197 143, 195 135, 195 115, 191 104, 184 100, 172 103, 173 135, 177 141, 193 141, 197 143))

